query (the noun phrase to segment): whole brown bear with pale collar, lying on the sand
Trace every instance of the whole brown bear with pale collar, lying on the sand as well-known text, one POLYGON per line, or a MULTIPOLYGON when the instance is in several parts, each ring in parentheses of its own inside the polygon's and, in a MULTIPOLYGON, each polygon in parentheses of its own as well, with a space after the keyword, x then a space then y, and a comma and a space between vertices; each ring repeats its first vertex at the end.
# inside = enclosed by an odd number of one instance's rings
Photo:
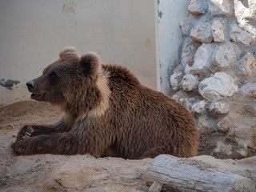
POLYGON ((102 65, 97 54, 66 47, 27 82, 31 98, 64 111, 52 126, 24 126, 14 154, 91 154, 154 158, 197 154, 198 130, 185 106, 151 90, 126 67, 102 65))

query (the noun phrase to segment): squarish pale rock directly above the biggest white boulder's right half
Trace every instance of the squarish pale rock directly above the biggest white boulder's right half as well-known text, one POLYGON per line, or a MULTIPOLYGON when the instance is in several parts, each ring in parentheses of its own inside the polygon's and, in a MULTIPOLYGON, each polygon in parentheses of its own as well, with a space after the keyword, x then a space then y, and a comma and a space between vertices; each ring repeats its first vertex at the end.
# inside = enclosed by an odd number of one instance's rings
POLYGON ((231 42, 218 46, 213 62, 214 71, 229 70, 237 63, 237 54, 231 42))

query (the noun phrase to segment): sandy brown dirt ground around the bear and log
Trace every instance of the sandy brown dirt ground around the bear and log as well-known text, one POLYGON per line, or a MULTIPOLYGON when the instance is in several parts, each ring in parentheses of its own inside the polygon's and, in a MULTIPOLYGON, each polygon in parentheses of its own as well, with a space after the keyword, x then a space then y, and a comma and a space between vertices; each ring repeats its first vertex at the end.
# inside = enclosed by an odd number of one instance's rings
MULTIPOLYGON (((93 158, 90 155, 13 156, 10 144, 27 124, 51 124, 62 112, 44 102, 17 102, 0 106, 0 191, 147 191, 146 170, 152 159, 93 158)), ((216 138, 214 138, 215 140, 216 138)), ((199 154, 214 147, 210 138, 201 138, 199 154)), ((209 157, 209 159, 207 158, 209 157)), ((196 157, 200 159, 200 157, 196 157)), ((256 157, 249 160, 220 160, 210 156, 214 166, 229 167, 256 182, 256 157), (226 166, 226 163, 230 166, 226 166)), ((226 171, 229 171, 226 170, 226 171)))

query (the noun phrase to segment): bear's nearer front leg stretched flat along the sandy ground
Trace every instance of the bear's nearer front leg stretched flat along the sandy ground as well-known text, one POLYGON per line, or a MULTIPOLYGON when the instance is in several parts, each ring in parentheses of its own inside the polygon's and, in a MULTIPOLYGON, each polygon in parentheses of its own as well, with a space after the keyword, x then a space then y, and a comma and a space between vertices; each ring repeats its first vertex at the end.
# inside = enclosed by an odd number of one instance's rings
POLYGON ((11 145, 16 155, 28 154, 78 154, 78 142, 72 134, 39 135, 19 140, 11 145))

